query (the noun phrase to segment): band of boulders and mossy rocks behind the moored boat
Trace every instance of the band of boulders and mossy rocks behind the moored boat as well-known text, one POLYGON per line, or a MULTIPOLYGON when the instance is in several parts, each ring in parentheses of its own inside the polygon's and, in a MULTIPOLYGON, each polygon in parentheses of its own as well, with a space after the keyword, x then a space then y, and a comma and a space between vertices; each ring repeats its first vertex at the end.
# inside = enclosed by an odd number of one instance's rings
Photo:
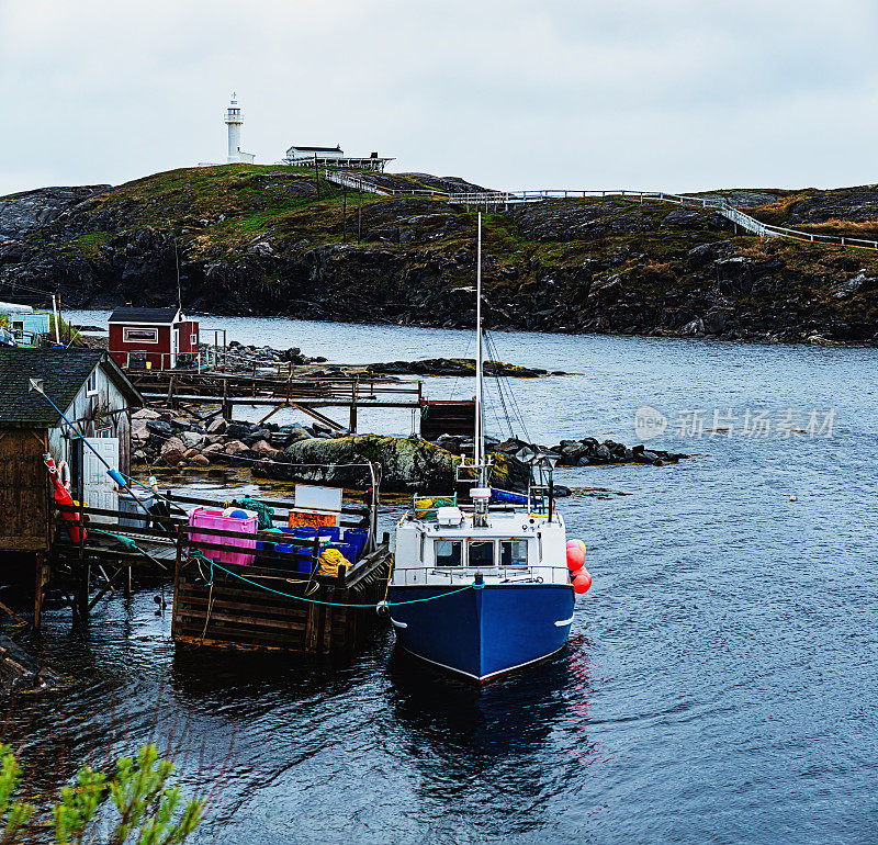
MULTIPOLYGON (((226 422, 218 415, 202 420, 153 408, 135 412, 132 419, 132 462, 142 470, 236 466, 249 469, 255 477, 365 487, 371 484, 367 464, 373 462, 381 465, 382 488, 390 492, 453 488, 454 467, 461 454, 472 454, 472 439, 449 435, 434 442, 380 435, 339 437, 316 424, 260 426, 226 422)), ((540 458, 558 466, 663 466, 688 458, 595 438, 562 440, 552 447, 488 438, 487 450, 495 464, 492 483, 514 491, 527 488, 529 463, 540 458)), ((559 495, 565 492, 559 485, 559 495)))

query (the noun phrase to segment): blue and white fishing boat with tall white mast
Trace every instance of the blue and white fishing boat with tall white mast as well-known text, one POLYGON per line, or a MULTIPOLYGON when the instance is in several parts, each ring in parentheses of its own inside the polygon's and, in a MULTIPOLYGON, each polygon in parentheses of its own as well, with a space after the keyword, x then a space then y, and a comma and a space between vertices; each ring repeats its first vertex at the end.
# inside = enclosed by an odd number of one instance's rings
MULTIPOLYGON (((488 486, 481 234, 480 215, 474 454, 472 463, 458 469, 458 481, 473 484, 471 504, 458 503, 457 494, 415 497, 413 511, 396 527, 389 590, 397 645, 479 683, 561 650, 575 599, 551 467, 533 467, 526 495, 488 486)), ((583 586, 577 583, 576 592, 584 592, 583 586)))

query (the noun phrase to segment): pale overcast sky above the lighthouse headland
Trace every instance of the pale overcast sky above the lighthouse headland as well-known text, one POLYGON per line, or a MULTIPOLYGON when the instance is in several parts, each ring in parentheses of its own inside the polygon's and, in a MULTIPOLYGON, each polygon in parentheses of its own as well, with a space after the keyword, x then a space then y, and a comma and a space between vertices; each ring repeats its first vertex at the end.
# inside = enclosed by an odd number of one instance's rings
POLYGON ((293 143, 497 188, 878 182, 875 0, 0 0, 0 194, 293 143))

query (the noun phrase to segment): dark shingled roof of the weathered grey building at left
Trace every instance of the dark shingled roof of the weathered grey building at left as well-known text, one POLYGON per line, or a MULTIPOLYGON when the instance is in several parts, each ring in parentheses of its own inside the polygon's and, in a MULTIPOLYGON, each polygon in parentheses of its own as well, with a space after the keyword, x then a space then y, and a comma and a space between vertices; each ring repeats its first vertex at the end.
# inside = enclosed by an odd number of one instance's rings
POLYGON ((60 416, 30 380, 42 379, 43 390, 61 410, 67 410, 91 371, 102 365, 132 405, 144 399, 102 349, 27 349, 0 347, 0 427, 54 426, 60 416))

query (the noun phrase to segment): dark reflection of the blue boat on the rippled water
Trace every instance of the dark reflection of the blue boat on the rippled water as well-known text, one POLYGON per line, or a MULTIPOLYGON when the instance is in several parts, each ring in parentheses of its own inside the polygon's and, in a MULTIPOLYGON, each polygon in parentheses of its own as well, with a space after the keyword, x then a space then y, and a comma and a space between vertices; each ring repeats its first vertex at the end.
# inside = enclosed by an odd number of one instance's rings
MULTIPOLYGON (((597 755, 584 646, 579 639, 481 688, 394 650, 389 706, 398 747, 420 773, 415 792, 425 823, 447 825, 460 814, 468 831, 485 836, 544 824, 582 760, 597 755)), ((460 833, 449 832, 450 841, 460 833)))

